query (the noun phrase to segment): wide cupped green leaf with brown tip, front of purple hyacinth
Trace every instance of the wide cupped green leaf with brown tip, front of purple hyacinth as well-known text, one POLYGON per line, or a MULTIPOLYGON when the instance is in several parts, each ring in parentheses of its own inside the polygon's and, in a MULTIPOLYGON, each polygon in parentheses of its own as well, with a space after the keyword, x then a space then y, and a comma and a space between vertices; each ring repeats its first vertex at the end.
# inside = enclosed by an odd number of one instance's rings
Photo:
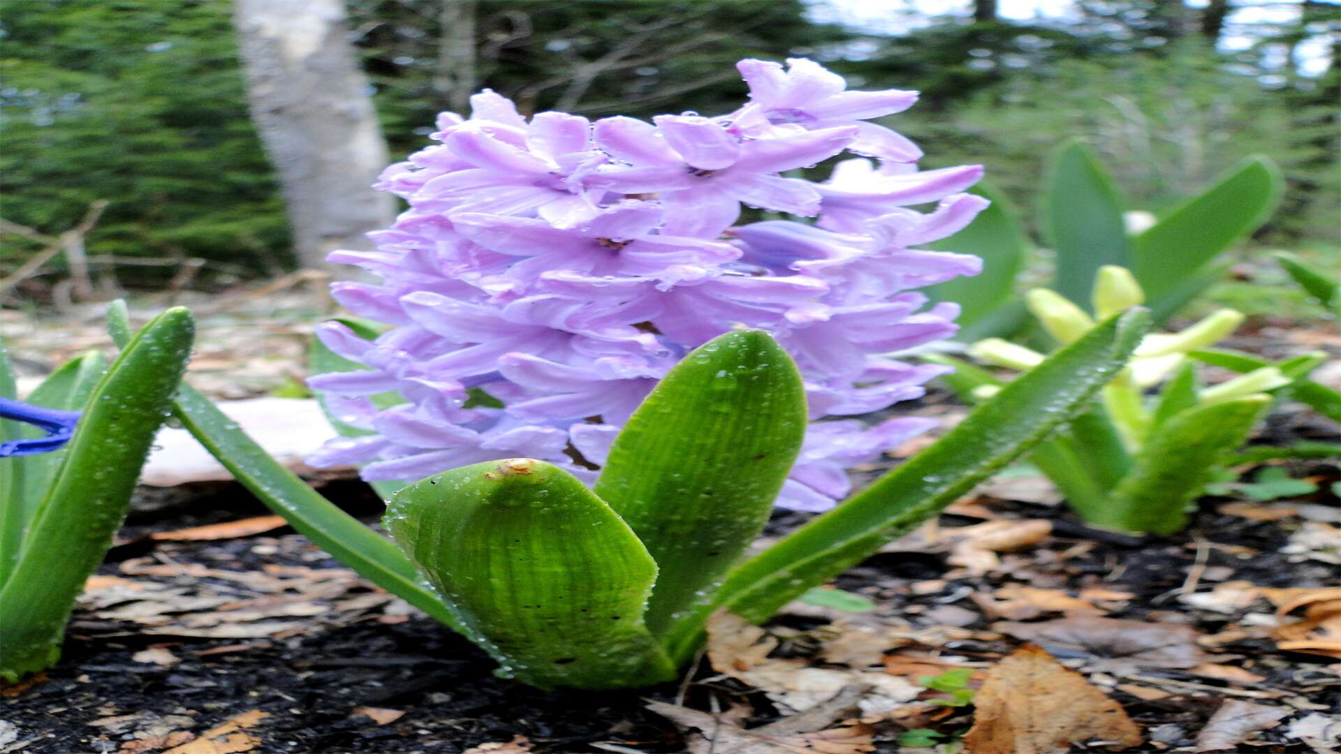
POLYGON ((675 678, 642 623, 657 563, 610 506, 544 462, 487 462, 416 482, 386 527, 503 672, 540 688, 675 678))

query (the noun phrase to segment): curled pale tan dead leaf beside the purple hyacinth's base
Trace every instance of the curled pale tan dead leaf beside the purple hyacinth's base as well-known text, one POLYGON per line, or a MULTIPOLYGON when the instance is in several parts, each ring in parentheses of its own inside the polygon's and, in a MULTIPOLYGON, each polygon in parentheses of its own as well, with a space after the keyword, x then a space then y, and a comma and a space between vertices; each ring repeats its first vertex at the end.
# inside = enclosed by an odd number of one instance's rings
POLYGON ((708 661, 712 669, 748 683, 774 703, 806 711, 849 686, 864 688, 862 718, 878 718, 917 698, 921 687, 882 669, 815 668, 799 659, 770 659, 778 640, 744 618, 717 610, 708 618, 708 661))

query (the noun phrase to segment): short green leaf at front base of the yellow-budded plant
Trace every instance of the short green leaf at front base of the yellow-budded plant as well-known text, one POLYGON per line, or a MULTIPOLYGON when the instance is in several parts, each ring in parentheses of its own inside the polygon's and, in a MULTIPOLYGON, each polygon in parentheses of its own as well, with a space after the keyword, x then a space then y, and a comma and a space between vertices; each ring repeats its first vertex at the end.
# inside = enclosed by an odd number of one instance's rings
POLYGON ((1173 416, 1141 448, 1132 474, 1089 523, 1122 531, 1179 531, 1187 526, 1191 500, 1269 405, 1270 396, 1257 394, 1173 416))

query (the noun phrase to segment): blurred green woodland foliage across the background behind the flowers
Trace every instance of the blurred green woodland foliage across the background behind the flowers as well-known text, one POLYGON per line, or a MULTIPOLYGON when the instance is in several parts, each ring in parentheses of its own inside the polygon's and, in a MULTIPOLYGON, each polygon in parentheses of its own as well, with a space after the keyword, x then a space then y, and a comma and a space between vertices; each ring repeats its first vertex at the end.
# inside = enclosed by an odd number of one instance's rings
MULTIPOLYGON (((460 54, 441 34, 451 3, 461 0, 347 3, 393 154, 421 146, 433 114, 460 99, 444 74, 460 54)), ((1081 0, 1029 23, 998 19, 984 0, 943 16, 890 4, 890 23, 857 27, 819 20, 837 16, 818 0, 479 0, 467 83, 528 111, 720 113, 740 101, 736 59, 807 55, 860 86, 921 90, 897 127, 937 164, 986 164, 1016 204, 1035 201, 1042 156, 1063 136, 1090 141, 1128 203, 1153 212, 1258 152, 1289 182, 1258 239, 1334 244, 1341 43, 1318 39, 1341 7, 1307 1, 1286 20, 1226 25, 1255 3, 1081 0), (1302 50, 1330 68, 1301 74, 1302 50)), ((255 275, 291 264, 229 11, 223 0, 0 4, 0 217, 60 232, 107 199, 90 254, 198 256, 255 275)), ((0 272, 35 248, 5 237, 0 272)))

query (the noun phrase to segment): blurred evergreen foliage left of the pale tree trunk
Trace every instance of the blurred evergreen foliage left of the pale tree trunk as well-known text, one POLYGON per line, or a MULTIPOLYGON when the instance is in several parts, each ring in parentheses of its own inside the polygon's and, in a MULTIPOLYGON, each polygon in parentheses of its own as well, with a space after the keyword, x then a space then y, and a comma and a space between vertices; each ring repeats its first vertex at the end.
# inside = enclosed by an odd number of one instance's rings
POLYGON ((90 254, 290 263, 228 3, 12 0, 0 32, 0 216, 59 232, 106 199, 90 254))

